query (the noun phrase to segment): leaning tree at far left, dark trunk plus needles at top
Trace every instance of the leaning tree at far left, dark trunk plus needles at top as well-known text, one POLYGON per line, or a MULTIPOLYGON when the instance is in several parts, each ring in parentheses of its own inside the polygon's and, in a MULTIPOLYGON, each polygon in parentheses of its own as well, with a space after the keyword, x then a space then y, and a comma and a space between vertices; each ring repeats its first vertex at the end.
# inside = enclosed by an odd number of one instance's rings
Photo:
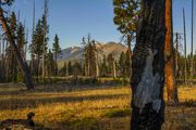
POLYGON ((23 60, 23 57, 17 49, 17 46, 15 44, 14 37, 13 37, 11 29, 7 23, 7 18, 4 17, 4 10, 2 8, 3 5, 11 5, 13 3, 13 1, 14 0, 0 0, 0 23, 1 23, 2 29, 4 30, 7 39, 10 42, 10 46, 17 57, 17 62, 21 65, 21 68, 24 73, 26 87, 28 90, 30 90, 30 89, 34 89, 34 84, 32 82, 30 70, 28 68, 27 63, 23 60))

